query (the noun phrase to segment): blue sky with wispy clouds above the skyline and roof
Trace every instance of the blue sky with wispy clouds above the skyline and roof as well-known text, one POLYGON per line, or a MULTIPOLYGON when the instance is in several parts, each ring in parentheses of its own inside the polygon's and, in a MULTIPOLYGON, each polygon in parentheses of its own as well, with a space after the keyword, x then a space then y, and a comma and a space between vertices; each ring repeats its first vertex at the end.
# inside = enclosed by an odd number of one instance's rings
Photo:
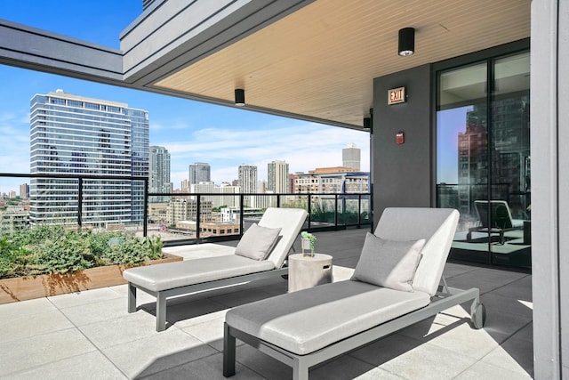
MULTIPOLYGON (((142 12, 142 0, 0 0, 0 19, 119 48, 118 36, 142 12)), ((188 178, 188 165, 208 162, 212 181, 231 182, 240 164, 289 163, 291 172, 341 166, 341 150, 355 143, 369 170, 369 133, 216 106, 199 101, 100 85, 68 77, 0 65, 0 173, 29 173, 29 100, 36 93, 62 89, 97 99, 147 109, 150 145, 172 155, 172 182, 188 178)), ((0 179, 0 192, 18 190, 21 179, 0 179)))

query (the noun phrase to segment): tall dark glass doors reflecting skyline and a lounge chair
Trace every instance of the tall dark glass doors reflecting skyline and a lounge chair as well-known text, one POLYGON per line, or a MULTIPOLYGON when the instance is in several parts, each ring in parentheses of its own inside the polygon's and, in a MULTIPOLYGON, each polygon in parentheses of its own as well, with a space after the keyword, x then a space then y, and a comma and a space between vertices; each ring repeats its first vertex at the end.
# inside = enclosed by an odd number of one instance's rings
POLYGON ((531 265, 528 109, 529 53, 438 73, 437 206, 461 212, 452 256, 531 265))

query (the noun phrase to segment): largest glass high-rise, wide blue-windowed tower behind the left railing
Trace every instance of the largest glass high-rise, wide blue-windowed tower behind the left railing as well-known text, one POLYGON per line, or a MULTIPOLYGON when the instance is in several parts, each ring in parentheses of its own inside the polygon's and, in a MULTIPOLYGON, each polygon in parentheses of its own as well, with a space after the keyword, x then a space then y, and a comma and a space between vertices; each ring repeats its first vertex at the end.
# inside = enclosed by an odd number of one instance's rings
MULTIPOLYGON (((148 111, 57 90, 30 101, 30 173, 148 177, 148 111)), ((85 179, 82 222, 141 223, 144 182, 85 179)), ((30 221, 75 224, 73 178, 32 178, 30 221)))

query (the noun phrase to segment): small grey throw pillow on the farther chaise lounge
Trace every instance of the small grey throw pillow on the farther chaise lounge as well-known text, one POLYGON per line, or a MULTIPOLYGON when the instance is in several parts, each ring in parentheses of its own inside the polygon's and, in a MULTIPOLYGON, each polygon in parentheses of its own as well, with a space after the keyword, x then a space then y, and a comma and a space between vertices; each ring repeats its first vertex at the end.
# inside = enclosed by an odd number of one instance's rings
POLYGON ((237 243, 235 254, 253 260, 265 260, 276 246, 280 228, 261 227, 252 223, 237 243))

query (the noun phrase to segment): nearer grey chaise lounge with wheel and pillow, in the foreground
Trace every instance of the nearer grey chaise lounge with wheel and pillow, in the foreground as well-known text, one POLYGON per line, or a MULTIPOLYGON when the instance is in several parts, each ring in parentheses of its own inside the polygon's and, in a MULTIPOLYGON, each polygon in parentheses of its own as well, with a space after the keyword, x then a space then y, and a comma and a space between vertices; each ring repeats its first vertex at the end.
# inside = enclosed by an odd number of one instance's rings
POLYGON ((387 208, 365 238, 352 279, 231 309, 223 375, 235 375, 236 338, 293 367, 301 380, 311 366, 469 300, 474 327, 483 327, 477 288, 439 289, 458 220, 452 209, 387 208))

